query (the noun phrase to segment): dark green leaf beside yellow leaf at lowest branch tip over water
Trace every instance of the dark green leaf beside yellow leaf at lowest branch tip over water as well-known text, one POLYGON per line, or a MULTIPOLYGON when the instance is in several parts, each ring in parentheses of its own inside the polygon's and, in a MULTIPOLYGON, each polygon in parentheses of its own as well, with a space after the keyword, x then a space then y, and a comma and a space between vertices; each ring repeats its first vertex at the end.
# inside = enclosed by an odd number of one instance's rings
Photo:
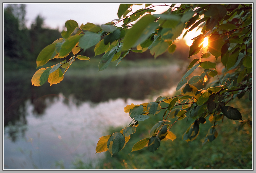
POLYGON ((113 133, 107 143, 108 151, 113 155, 122 150, 125 144, 125 137, 120 132, 113 133))

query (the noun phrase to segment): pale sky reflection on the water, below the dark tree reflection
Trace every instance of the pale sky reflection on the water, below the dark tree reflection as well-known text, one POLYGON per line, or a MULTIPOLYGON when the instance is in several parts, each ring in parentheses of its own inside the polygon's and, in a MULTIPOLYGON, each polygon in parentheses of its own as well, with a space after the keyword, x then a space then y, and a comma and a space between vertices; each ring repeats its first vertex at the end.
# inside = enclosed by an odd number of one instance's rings
MULTIPOLYGON (((127 104, 140 104, 142 101, 128 99, 108 102, 84 102, 76 107, 65 98, 51 102, 43 116, 33 115, 33 106, 27 104, 27 130, 25 137, 15 143, 4 135, 4 169, 56 169, 55 162, 62 160, 69 168, 75 158, 95 162, 103 153, 95 155, 98 139, 108 126, 125 126, 131 121, 124 112, 127 104), (33 165, 34 164, 34 165, 33 165)), ((5 129, 8 132, 7 127, 5 129)), ((18 136, 21 136, 17 134, 18 136)))

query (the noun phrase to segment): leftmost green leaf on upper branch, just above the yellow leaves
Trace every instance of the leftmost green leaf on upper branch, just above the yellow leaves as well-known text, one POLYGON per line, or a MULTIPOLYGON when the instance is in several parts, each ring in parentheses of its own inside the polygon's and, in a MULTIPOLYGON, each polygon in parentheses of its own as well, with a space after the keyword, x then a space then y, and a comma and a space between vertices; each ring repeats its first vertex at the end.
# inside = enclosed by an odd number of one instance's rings
POLYGON ((50 44, 46 46, 43 50, 41 50, 40 54, 36 58, 36 66, 45 65, 50 59, 52 59, 52 55, 55 52, 56 43, 50 44))

